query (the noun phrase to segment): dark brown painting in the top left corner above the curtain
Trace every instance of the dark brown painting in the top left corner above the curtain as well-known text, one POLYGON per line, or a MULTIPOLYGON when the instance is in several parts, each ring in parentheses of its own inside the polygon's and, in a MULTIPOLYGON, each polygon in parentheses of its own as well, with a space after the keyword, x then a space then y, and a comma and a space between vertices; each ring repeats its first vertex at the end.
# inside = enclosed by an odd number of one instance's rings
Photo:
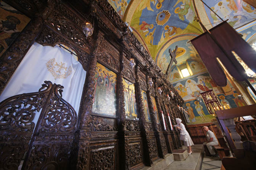
POLYGON ((30 18, 0 1, 0 56, 29 23, 30 18))

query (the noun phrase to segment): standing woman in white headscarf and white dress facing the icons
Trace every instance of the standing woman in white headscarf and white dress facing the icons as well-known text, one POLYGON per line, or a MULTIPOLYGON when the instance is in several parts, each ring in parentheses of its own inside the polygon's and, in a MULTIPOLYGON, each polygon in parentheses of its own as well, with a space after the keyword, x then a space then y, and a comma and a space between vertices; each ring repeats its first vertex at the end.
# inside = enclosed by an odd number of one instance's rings
POLYGON ((181 123, 181 119, 176 118, 176 122, 177 125, 175 125, 174 127, 178 128, 181 132, 180 139, 184 141, 184 145, 187 146, 187 148, 189 149, 189 154, 192 154, 191 145, 194 145, 194 143, 189 136, 189 132, 187 132, 187 130, 185 129, 184 124, 181 123))

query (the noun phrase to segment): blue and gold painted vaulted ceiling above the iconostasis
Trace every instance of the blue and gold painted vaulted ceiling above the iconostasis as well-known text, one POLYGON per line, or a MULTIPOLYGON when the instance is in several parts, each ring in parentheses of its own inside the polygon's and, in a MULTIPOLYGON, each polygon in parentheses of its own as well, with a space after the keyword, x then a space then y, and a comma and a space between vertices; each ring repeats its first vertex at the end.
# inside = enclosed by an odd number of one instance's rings
MULTIPOLYGON (((228 19, 248 43, 256 42, 256 9, 243 0, 203 0, 223 20, 228 19)), ((168 71, 171 82, 182 79, 175 74, 190 66, 194 74, 206 71, 205 66, 190 43, 204 31, 195 17, 207 29, 221 22, 200 0, 108 0, 119 16, 165 73, 171 60, 169 49, 178 46, 176 60, 168 71)))

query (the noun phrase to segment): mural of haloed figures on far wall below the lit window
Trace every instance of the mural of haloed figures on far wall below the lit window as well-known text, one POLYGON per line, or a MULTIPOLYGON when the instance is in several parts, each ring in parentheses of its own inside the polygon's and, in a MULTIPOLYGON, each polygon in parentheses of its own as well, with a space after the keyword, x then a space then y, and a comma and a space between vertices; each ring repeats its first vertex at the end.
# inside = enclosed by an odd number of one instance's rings
POLYGON ((217 94, 218 100, 221 103, 223 108, 235 108, 238 106, 247 105, 244 99, 241 99, 238 96, 238 93, 234 91, 231 84, 228 82, 226 87, 218 87, 212 82, 212 79, 208 72, 203 73, 197 76, 190 76, 187 79, 182 79, 176 84, 173 84, 174 88, 179 92, 185 101, 184 105, 189 113, 188 124, 200 124, 211 122, 214 119, 214 116, 211 115, 203 100, 196 100, 197 97, 200 97, 200 93, 213 89, 217 94), (231 87, 230 87, 231 86, 231 87), (223 89, 223 90, 222 90, 223 89), (227 94, 224 94, 224 90, 229 89, 227 94), (231 90, 231 92, 230 92, 231 90))

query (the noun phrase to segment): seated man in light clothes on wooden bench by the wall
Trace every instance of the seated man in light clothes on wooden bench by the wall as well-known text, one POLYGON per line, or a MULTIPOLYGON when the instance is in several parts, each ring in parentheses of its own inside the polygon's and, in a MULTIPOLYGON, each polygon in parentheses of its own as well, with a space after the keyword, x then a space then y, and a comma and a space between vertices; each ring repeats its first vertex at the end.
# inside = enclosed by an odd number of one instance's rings
POLYGON ((207 132, 206 138, 208 141, 208 142, 203 143, 203 145, 207 146, 208 151, 211 154, 211 157, 215 157, 215 156, 217 156, 217 154, 213 150, 212 146, 219 145, 219 142, 218 142, 217 138, 215 137, 214 133, 211 132, 211 130, 209 130, 209 128, 207 126, 204 126, 203 129, 207 132))

